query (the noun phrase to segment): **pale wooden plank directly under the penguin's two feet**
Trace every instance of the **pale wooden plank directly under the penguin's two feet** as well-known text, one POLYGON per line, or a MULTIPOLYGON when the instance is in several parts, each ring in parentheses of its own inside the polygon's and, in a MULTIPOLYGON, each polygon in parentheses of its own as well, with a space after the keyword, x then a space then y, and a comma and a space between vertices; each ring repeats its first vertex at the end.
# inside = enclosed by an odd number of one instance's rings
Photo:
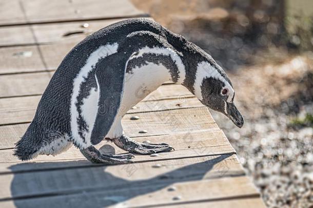
MULTIPOLYGON (((136 138, 136 141, 142 142, 147 138, 136 138)), ((169 159, 181 159, 191 157, 207 157, 214 155, 229 155, 234 154, 234 149, 229 144, 228 140, 222 135, 221 131, 213 133, 212 131, 180 133, 165 136, 154 136, 148 138, 151 142, 167 142, 172 144, 175 151, 170 153, 160 153, 158 157, 150 157, 145 155, 136 155, 133 159, 133 164, 147 161, 163 161, 169 159), (211 137, 206 136, 209 135, 211 137), (212 136, 213 135, 213 136, 212 136), (198 136, 199 138, 196 138, 198 136), (179 139, 182 139, 180 141, 179 139), (188 148, 188 145, 190 148, 188 148)), ((113 145, 113 144, 112 144, 113 145)), ((125 153, 116 146, 111 146, 102 142, 96 145, 103 154, 120 154, 125 153), (105 144, 105 145, 104 145, 105 144), (114 149, 115 148, 115 149, 114 149)), ((64 169, 73 167, 92 167, 95 164, 90 163, 76 148, 70 148, 67 152, 52 157, 52 156, 38 156, 36 159, 29 162, 21 162, 12 156, 12 149, 4 149, 0 151, 1 166, 0 173, 24 173, 34 171, 44 171, 51 169, 64 169)), ((132 165, 133 165, 132 164, 132 165)))

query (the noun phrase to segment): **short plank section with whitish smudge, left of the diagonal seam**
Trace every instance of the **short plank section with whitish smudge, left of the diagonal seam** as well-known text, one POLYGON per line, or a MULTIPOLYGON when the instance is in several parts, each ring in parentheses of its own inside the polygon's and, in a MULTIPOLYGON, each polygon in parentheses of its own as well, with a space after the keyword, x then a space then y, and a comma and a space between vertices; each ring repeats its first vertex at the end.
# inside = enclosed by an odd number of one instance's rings
POLYGON ((37 46, 0 48, 0 74, 46 70, 37 46))

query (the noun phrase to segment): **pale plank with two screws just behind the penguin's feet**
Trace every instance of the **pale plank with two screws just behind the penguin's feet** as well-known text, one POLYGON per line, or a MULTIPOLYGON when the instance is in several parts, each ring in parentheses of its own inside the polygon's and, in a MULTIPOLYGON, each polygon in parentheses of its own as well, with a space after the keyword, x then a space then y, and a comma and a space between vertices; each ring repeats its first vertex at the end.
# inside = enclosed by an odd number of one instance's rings
MULTIPOLYGON (((142 112, 136 114, 139 120, 130 120, 132 114, 126 115, 123 120, 125 134, 130 137, 167 135, 179 132, 188 132, 202 129, 218 129, 207 108, 186 108, 168 111, 142 112), (175 120, 171 120, 175 119, 175 120), (188 123, 190 122, 191 123, 188 123), (139 131, 146 129, 146 134, 139 131)), ((0 126, 0 147, 12 148, 14 143, 25 133, 29 123, 0 126)))

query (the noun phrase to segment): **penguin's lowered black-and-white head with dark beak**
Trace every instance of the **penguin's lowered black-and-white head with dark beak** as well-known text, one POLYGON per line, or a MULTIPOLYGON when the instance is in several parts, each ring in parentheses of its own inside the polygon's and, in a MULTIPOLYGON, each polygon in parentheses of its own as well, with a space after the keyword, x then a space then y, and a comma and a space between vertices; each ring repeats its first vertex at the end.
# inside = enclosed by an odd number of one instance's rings
POLYGON ((243 126, 243 117, 233 103, 235 92, 232 84, 218 64, 207 61, 198 64, 194 94, 202 104, 222 112, 236 126, 243 126))

